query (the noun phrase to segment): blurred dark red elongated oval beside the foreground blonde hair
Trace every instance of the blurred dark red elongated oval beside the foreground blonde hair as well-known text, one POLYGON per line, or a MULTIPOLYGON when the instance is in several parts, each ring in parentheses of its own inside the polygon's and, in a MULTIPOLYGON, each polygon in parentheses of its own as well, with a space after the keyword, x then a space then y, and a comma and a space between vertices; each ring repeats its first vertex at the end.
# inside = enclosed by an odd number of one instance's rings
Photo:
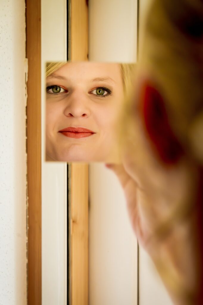
POLYGON ((165 164, 174 164, 183 155, 166 112, 166 101, 151 84, 145 84, 141 96, 141 115, 155 154, 165 164))

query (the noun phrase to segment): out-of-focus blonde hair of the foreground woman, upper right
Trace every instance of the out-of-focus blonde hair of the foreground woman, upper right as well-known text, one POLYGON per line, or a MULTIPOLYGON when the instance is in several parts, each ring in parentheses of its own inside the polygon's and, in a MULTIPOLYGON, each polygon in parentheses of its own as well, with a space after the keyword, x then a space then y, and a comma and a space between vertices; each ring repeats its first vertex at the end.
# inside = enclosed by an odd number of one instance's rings
MULTIPOLYGON (((203 3, 155 0, 145 23, 140 69, 153 75, 186 151, 203 163, 203 3)), ((153 81, 153 80, 152 80, 153 81)))

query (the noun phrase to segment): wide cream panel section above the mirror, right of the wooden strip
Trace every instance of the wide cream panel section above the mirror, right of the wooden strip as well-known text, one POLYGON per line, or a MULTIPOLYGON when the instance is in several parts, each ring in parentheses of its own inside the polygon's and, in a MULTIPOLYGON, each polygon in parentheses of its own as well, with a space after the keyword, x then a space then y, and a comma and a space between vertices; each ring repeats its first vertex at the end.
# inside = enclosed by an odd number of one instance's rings
POLYGON ((137 0, 89 0, 89 60, 136 59, 137 0))

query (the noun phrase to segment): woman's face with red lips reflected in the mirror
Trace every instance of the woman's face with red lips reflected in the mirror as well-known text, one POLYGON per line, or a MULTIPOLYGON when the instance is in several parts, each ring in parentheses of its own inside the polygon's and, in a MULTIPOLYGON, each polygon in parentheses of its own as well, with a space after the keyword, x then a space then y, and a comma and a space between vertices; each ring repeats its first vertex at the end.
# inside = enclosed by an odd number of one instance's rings
POLYGON ((115 161, 123 104, 119 64, 67 63, 46 86, 46 160, 115 161))

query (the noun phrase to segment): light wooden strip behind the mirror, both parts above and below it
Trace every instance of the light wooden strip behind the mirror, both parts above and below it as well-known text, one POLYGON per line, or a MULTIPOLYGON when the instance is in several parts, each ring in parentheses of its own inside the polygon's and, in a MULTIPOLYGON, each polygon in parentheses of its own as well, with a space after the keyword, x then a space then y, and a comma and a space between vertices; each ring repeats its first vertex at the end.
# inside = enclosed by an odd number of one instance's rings
MULTIPOLYGON (((70 59, 88 59, 86 0, 70 2, 70 59)), ((88 165, 71 164, 71 289, 72 305, 88 305, 88 165)))

